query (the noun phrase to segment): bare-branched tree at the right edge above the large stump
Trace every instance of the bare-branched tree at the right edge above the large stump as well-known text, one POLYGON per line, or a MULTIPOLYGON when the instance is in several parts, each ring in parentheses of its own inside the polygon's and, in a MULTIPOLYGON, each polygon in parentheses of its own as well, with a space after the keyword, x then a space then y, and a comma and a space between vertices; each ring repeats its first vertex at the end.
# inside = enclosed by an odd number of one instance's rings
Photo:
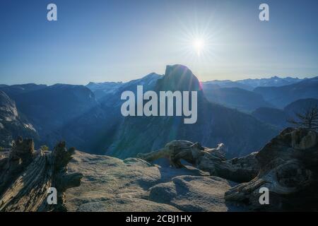
POLYGON ((295 113, 298 120, 288 119, 290 124, 299 128, 318 129, 318 107, 314 105, 305 110, 304 113, 295 113))

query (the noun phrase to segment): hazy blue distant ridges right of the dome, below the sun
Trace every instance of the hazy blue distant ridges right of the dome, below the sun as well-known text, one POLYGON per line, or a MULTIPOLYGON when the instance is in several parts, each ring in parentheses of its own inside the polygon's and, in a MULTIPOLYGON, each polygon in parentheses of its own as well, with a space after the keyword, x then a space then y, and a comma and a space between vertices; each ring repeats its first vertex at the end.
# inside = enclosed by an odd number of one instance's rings
POLYGON ((252 113, 260 107, 283 109, 299 99, 318 98, 318 77, 245 79, 203 82, 211 102, 252 113))

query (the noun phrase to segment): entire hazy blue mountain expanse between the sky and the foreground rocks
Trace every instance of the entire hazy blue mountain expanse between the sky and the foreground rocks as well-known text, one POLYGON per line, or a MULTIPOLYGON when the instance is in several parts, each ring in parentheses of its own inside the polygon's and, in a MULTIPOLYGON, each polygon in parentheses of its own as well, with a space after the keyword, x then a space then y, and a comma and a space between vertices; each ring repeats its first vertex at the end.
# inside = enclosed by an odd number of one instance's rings
MULTIPOLYGON (((298 97, 316 99, 317 78, 200 83, 186 66, 172 65, 164 75, 150 73, 125 83, 0 85, 0 90, 1 103, 6 103, 1 107, 4 147, 23 135, 39 145, 52 147, 65 140, 78 150, 124 158, 183 139, 206 146, 225 143, 228 157, 238 157, 259 150, 287 126, 287 105, 298 97), (122 117, 120 96, 126 90, 136 93, 137 85, 143 85, 144 92, 196 90, 198 121, 187 125, 182 117, 122 117), (16 127, 4 123, 7 114, 16 127)), ((293 111, 299 109, 302 104, 296 103, 293 111)))

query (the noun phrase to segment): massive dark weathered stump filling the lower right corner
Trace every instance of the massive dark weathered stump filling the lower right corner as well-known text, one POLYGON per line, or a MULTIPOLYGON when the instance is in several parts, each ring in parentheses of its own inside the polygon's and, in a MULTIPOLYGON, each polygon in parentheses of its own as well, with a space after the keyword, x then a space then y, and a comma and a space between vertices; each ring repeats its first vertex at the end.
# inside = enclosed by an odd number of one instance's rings
POLYGON ((227 201, 253 210, 318 210, 318 135, 307 129, 285 129, 256 158, 259 174, 225 193, 227 201), (269 189, 269 205, 259 203, 259 189, 269 189))

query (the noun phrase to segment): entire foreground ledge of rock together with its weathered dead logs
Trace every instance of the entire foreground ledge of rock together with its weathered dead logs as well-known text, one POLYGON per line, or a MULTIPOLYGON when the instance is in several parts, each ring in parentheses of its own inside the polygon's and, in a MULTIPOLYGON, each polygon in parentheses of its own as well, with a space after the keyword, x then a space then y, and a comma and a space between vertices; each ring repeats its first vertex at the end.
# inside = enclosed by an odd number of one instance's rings
POLYGON ((18 139, 0 155, 0 210, 318 210, 318 135, 312 130, 285 129, 258 153, 232 160, 223 145, 189 141, 125 160, 67 150, 65 143, 52 153, 33 147, 18 139), (50 186, 58 189, 58 205, 46 203, 50 186), (259 203, 262 188, 269 190, 269 205, 259 203))

